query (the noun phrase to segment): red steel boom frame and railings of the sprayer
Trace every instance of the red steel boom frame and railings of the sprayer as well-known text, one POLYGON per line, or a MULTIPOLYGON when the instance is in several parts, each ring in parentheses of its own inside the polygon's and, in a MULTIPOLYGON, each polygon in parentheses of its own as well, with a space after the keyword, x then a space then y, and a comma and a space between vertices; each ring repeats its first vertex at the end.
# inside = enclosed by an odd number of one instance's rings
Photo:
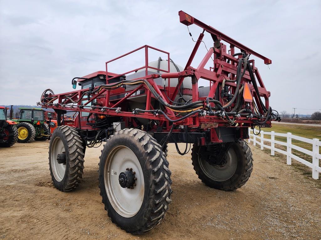
MULTIPOLYGON (((208 97, 214 97, 215 92, 217 90, 217 88, 220 88, 220 84, 223 82, 224 78, 227 78, 228 75, 230 74, 231 78, 235 78, 236 76, 236 71, 237 71, 237 62, 238 62, 238 58, 233 57, 232 55, 235 52, 235 48, 240 49, 241 51, 245 51, 248 54, 252 54, 262 60, 264 60, 265 64, 271 64, 272 61, 269 60, 268 58, 262 56, 259 53, 254 52, 253 50, 249 49, 248 47, 238 43, 237 41, 233 40, 232 38, 224 35, 223 33, 219 32, 218 30, 204 24, 203 22, 191 17, 190 15, 186 14, 183 11, 179 12, 179 19, 180 22, 185 24, 185 25, 191 25, 191 24, 195 24, 201 28, 203 28, 202 33, 199 35, 198 40, 195 43, 194 49, 189 57, 189 59, 187 60, 186 66, 184 68, 183 71, 181 72, 169 72, 169 52, 165 52, 162 51, 160 49, 148 46, 148 45, 144 45, 140 48, 135 49, 134 51, 128 52, 122 56, 119 56, 115 59, 109 60, 106 62, 106 81, 108 84, 108 81, 113 79, 113 78, 117 78, 117 77, 121 77, 124 76, 128 73, 132 73, 135 72, 137 70, 140 69, 144 69, 145 68, 145 77, 144 79, 146 79, 155 89, 155 91, 165 100, 167 101, 167 99, 164 97, 163 93, 164 91, 168 92, 168 96, 171 97, 172 100, 175 99, 175 96, 178 93, 178 89, 181 86, 184 77, 187 76, 191 76, 192 77, 192 97, 193 97, 193 101, 197 101, 197 100, 204 100, 206 97, 199 97, 198 96, 198 80, 199 79, 206 79, 210 81, 210 92, 208 94, 208 97), (213 42, 214 42, 214 46, 211 47, 208 52, 206 53, 206 55, 204 56, 203 60, 200 62, 200 64, 198 65, 197 68, 193 68, 190 66, 192 60, 195 57, 195 54, 200 46, 200 43, 204 37, 204 32, 208 32, 211 34, 212 38, 213 38, 213 42), (227 43, 230 44, 230 50, 227 52, 227 47, 225 44, 221 43, 220 41, 225 41, 227 43), (165 54, 168 55, 168 70, 165 69, 158 69, 158 68, 153 68, 148 66, 148 49, 153 49, 156 51, 160 51, 163 52, 165 54), (145 66, 140 67, 140 68, 135 68, 132 71, 128 71, 122 74, 111 74, 109 75, 108 73, 108 63, 113 62, 115 60, 119 60, 122 57, 125 57, 133 52, 136 52, 138 50, 144 49, 145 50, 145 66), (214 60, 213 60, 213 67, 211 67, 210 69, 205 69, 204 66, 205 64, 210 60, 211 56, 214 54, 214 60), (228 63, 227 60, 229 60, 230 62, 228 63), (148 68, 154 69, 154 70, 160 70, 164 73, 162 74, 151 74, 148 75, 148 68), (109 77, 110 76, 110 77, 109 77), (166 87, 164 89, 163 86, 158 86, 157 84, 155 84, 154 79, 155 78, 166 78, 166 79, 170 79, 170 78, 178 78, 178 85, 177 87, 166 87)), ((243 76, 241 83, 247 83, 249 85, 250 91, 252 96, 254 97, 254 99, 256 100, 256 102, 258 102, 260 97, 264 97, 265 99, 265 106, 266 108, 268 108, 269 106, 269 97, 270 97, 270 92, 268 92, 265 89, 265 86, 263 84, 263 81, 261 79, 261 76, 258 72, 258 69, 255 67, 255 63, 254 60, 250 60, 251 63, 251 68, 257 78, 257 81, 259 83, 259 96, 256 94, 256 92, 254 91, 254 87, 253 85, 250 83, 250 76, 248 71, 246 71, 245 75, 243 76)), ((139 78, 141 79, 141 78, 139 78)), ((226 82, 225 85, 230 87, 230 91, 232 94, 234 94, 233 91, 235 91, 236 88, 236 84, 235 83, 231 83, 231 82, 226 82)), ((95 89, 97 89, 98 87, 96 87, 95 89)), ((121 111, 115 111, 115 110, 108 110, 108 109, 98 109, 95 107, 91 107, 91 108, 86 108, 86 107, 81 107, 81 106, 71 106, 71 102, 69 100, 65 100, 67 97, 70 97, 73 100, 79 100, 79 98, 82 96, 82 94, 84 92, 87 92, 89 89, 82 89, 82 90, 77 90, 77 91, 72 91, 72 92, 66 92, 66 93, 60 93, 60 94, 49 94, 48 97, 54 97, 52 100, 50 101, 46 101, 43 100, 42 105, 43 107, 49 107, 49 108, 54 108, 56 110, 68 110, 68 111, 78 111, 78 112, 90 112, 90 113, 95 113, 97 115, 105 115, 105 116, 122 116, 125 117, 125 121, 126 123, 128 123, 128 121, 130 121, 131 118, 133 117, 139 117, 139 118, 145 118, 145 119, 152 119, 152 120, 158 120, 160 122, 160 124, 162 123, 166 123, 166 127, 167 130, 164 130, 164 132, 169 131, 170 129, 170 125, 169 122, 167 121, 167 119, 163 116, 163 115, 154 115, 152 113, 133 113, 133 112, 129 112, 129 111, 124 111, 123 109, 121 111), (68 104, 68 105, 67 105, 68 104)), ((100 102, 100 106, 104 106, 104 107, 109 107, 109 108, 115 108, 115 107, 119 107, 121 104, 123 104, 124 102, 126 102, 130 97, 133 97, 134 95, 137 94, 137 91, 141 91, 144 92, 144 94, 142 95, 146 95, 146 110, 150 110, 153 109, 153 106, 151 104, 152 99, 155 99, 154 96, 152 95, 152 93, 150 92, 150 90, 143 84, 137 86, 134 90, 131 91, 126 91, 125 88, 120 87, 116 90, 111 90, 108 91, 106 89, 102 89, 100 92, 95 93, 93 95, 90 95, 89 100, 87 98, 87 96, 84 96, 83 101, 84 103, 82 104, 83 106, 88 106, 89 103, 93 102, 94 100, 100 102), (123 97, 119 97, 117 98, 118 95, 124 94, 125 96, 123 97)), ((220 89, 221 91, 221 89, 220 89)), ((137 96, 137 95, 136 95, 137 96)), ((223 100, 220 98, 220 101, 223 102, 223 100)), ((167 101, 169 102, 169 101, 167 101)), ((263 110, 261 109, 260 105, 257 104, 258 110, 262 113, 263 110)), ((252 103, 250 104, 250 108, 253 110, 253 105, 252 103)), ((177 117, 175 115, 175 113, 171 110, 171 109, 166 109, 167 110, 167 115, 173 119, 176 120, 179 117, 177 117)), ((253 126, 253 119, 258 119, 258 118, 246 118, 246 117, 238 117, 235 121, 235 123, 238 123, 238 127, 250 127, 253 126)), ((75 121, 76 122, 76 121, 75 121)), ((230 126, 224 119, 222 119, 219 116, 198 116, 198 115, 194 115, 194 116, 190 116, 187 117, 186 119, 183 119, 175 124, 178 125, 188 125, 190 127, 201 127, 204 126, 204 129, 210 128, 210 127, 217 127, 217 126, 226 126, 226 127, 233 127, 230 126)), ((271 121, 267 121, 265 126, 269 126, 271 124, 271 121)), ((78 126, 81 127, 81 126, 78 126)), ((90 129, 90 127, 89 127, 90 129)), ((156 129, 153 129, 152 131, 156 131, 156 129)), ((174 130, 175 131, 180 131, 180 130, 174 130)), ((196 130, 191 130, 191 131, 196 131, 196 130)))

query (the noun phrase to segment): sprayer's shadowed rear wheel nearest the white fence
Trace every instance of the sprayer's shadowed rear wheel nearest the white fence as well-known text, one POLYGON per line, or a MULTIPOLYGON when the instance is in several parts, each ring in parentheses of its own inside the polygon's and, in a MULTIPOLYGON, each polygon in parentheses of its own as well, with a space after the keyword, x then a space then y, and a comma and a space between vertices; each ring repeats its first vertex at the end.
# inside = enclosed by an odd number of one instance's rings
POLYGON ((198 178, 206 186, 224 191, 233 191, 242 187, 251 176, 253 169, 252 152, 247 143, 245 141, 232 142, 221 159, 215 159, 218 153, 213 148, 220 149, 222 144, 212 146, 209 151, 206 146, 193 145, 192 164, 198 178), (213 160, 212 162, 208 160, 206 156, 209 155, 220 164, 216 165, 217 162, 213 164, 213 160))

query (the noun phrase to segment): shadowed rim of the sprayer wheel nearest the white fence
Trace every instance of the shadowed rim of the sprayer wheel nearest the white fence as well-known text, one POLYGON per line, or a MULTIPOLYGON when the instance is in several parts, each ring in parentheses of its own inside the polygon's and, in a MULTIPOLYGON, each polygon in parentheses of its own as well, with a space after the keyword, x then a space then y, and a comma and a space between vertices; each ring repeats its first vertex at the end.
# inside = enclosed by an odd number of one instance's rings
MULTIPOLYGON (((201 148, 199 149, 199 151, 201 148)), ((236 172, 238 166, 238 156, 235 153, 235 150, 231 147, 228 152, 225 154, 226 163, 224 166, 215 166, 209 164, 207 161, 202 160, 199 157, 198 152, 198 162, 207 177, 214 181, 226 181, 229 180, 234 173, 236 172)))

